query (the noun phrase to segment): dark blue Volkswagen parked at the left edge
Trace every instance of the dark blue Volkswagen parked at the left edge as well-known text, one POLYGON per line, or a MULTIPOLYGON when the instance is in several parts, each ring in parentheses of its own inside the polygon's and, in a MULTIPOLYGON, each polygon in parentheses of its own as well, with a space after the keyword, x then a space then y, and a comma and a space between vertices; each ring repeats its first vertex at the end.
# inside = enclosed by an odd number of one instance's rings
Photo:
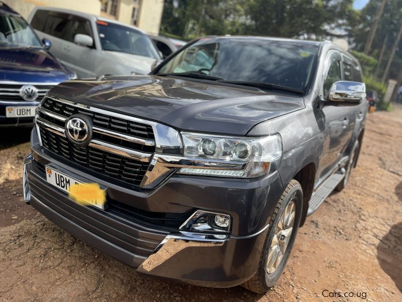
POLYGON ((0 2, 0 126, 32 127, 36 106, 46 92, 75 77, 49 53, 50 46, 0 2))

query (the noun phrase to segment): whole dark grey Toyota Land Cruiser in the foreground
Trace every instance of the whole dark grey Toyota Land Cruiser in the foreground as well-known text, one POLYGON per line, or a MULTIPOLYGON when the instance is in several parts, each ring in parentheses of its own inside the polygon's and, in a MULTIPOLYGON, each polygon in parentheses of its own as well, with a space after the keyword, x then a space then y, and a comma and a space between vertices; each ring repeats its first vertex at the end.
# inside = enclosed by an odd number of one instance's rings
POLYGON ((356 166, 362 82, 331 42, 233 36, 148 75, 64 82, 37 109, 25 200, 139 273, 265 292, 356 166), (105 199, 76 202, 85 183, 105 199))

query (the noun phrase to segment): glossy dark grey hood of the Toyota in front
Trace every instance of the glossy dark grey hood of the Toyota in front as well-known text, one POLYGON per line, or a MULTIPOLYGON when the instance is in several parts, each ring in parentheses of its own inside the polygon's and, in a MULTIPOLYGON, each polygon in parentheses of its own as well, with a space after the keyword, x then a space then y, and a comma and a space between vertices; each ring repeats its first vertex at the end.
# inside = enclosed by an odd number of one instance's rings
POLYGON ((305 107, 300 96, 152 75, 67 81, 50 94, 182 130, 237 135, 305 107))

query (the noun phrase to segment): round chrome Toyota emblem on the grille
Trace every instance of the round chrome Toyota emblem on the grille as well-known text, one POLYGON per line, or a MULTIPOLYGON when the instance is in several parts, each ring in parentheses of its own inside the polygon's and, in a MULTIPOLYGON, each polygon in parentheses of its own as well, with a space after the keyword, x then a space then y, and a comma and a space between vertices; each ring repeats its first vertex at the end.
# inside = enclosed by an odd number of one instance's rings
POLYGON ((67 138, 78 145, 87 145, 91 139, 91 121, 88 117, 77 114, 70 116, 65 124, 67 138))

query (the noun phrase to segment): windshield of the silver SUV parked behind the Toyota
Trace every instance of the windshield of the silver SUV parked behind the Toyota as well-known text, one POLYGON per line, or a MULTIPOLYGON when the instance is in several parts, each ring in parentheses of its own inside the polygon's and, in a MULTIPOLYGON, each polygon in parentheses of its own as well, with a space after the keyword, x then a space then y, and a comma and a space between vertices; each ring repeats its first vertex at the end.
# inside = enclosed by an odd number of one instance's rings
POLYGON ((120 51, 160 59, 151 39, 134 28, 97 21, 100 44, 104 50, 120 51))

